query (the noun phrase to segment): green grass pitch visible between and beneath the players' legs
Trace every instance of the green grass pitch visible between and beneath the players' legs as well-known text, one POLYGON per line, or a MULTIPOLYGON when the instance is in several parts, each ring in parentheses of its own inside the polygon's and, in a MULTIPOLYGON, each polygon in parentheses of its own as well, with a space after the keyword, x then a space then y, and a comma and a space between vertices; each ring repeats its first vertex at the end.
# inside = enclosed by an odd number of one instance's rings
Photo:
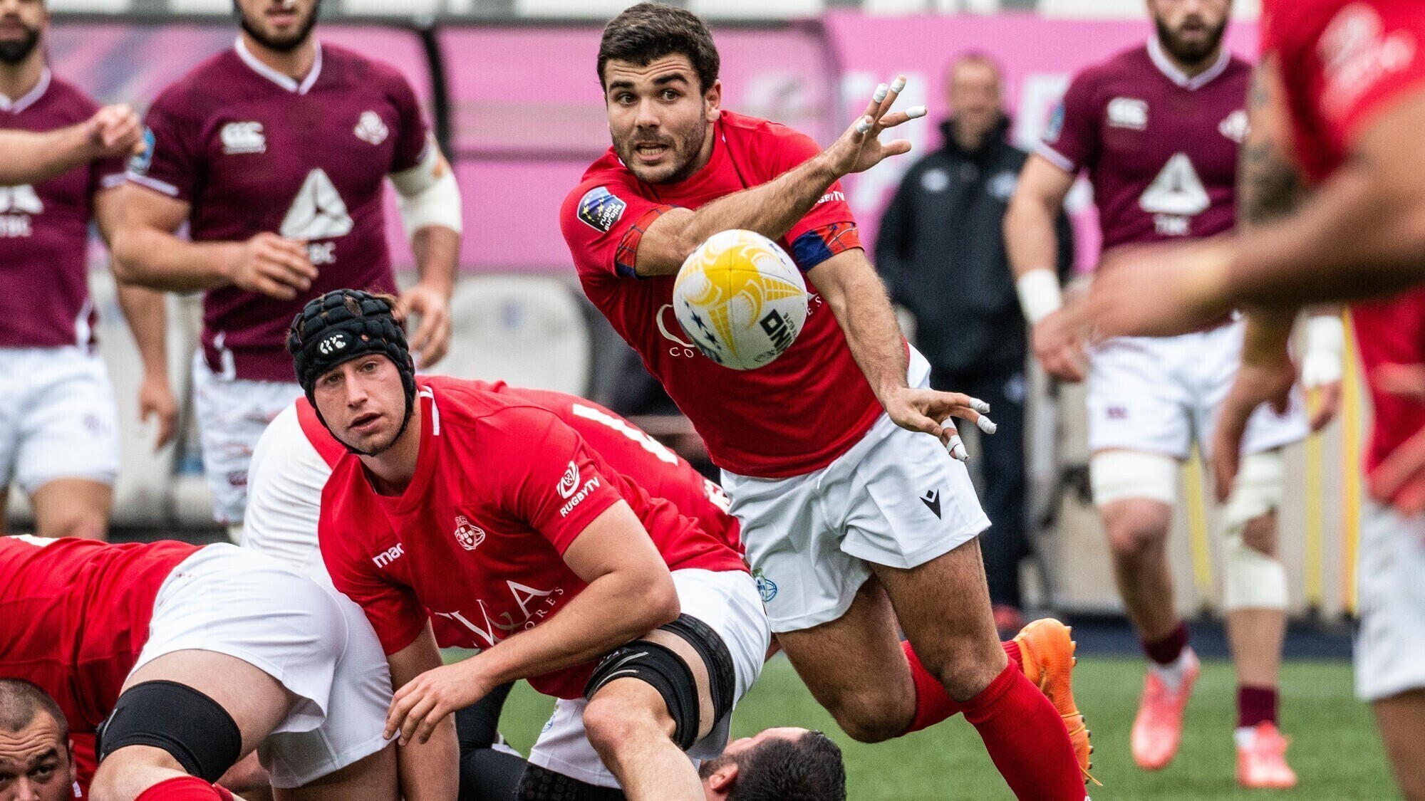
MULTIPOLYGON (((1079 661, 1074 694, 1093 730, 1094 774, 1104 784, 1090 788, 1094 801, 1399 798, 1371 713, 1352 697, 1351 666, 1345 661, 1290 661, 1282 670, 1282 727, 1292 740, 1291 765, 1301 777, 1291 791, 1237 788, 1231 743, 1234 681, 1231 666, 1224 661, 1203 664, 1177 760, 1156 774, 1136 768, 1129 757, 1129 728, 1141 680, 1140 660, 1079 661)), ((550 706, 549 698, 520 683, 502 721, 510 744, 527 753, 550 706)), ((768 663, 738 706, 732 735, 770 725, 805 725, 831 734, 845 751, 854 801, 1013 800, 963 718, 891 743, 855 743, 817 706, 785 658, 768 663)))

